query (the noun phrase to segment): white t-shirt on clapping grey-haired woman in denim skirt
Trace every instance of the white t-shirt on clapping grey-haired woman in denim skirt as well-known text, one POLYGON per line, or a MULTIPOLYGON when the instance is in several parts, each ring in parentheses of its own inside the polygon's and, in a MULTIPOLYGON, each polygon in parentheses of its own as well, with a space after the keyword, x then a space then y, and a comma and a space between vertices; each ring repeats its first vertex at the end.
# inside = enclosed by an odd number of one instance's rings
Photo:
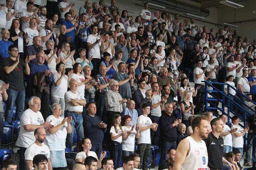
MULTIPOLYGON (((51 124, 56 127, 59 124, 61 124, 62 120, 64 117, 56 118, 53 115, 50 115, 49 117, 46 118, 46 122, 51 122, 51 124)), ((46 140, 45 140, 45 145, 51 149, 51 151, 62 151, 66 148, 65 142, 66 142, 66 137, 68 134, 68 123, 65 122, 65 125, 60 128, 59 131, 57 131, 54 134, 51 134, 49 131, 46 131, 46 140)))

